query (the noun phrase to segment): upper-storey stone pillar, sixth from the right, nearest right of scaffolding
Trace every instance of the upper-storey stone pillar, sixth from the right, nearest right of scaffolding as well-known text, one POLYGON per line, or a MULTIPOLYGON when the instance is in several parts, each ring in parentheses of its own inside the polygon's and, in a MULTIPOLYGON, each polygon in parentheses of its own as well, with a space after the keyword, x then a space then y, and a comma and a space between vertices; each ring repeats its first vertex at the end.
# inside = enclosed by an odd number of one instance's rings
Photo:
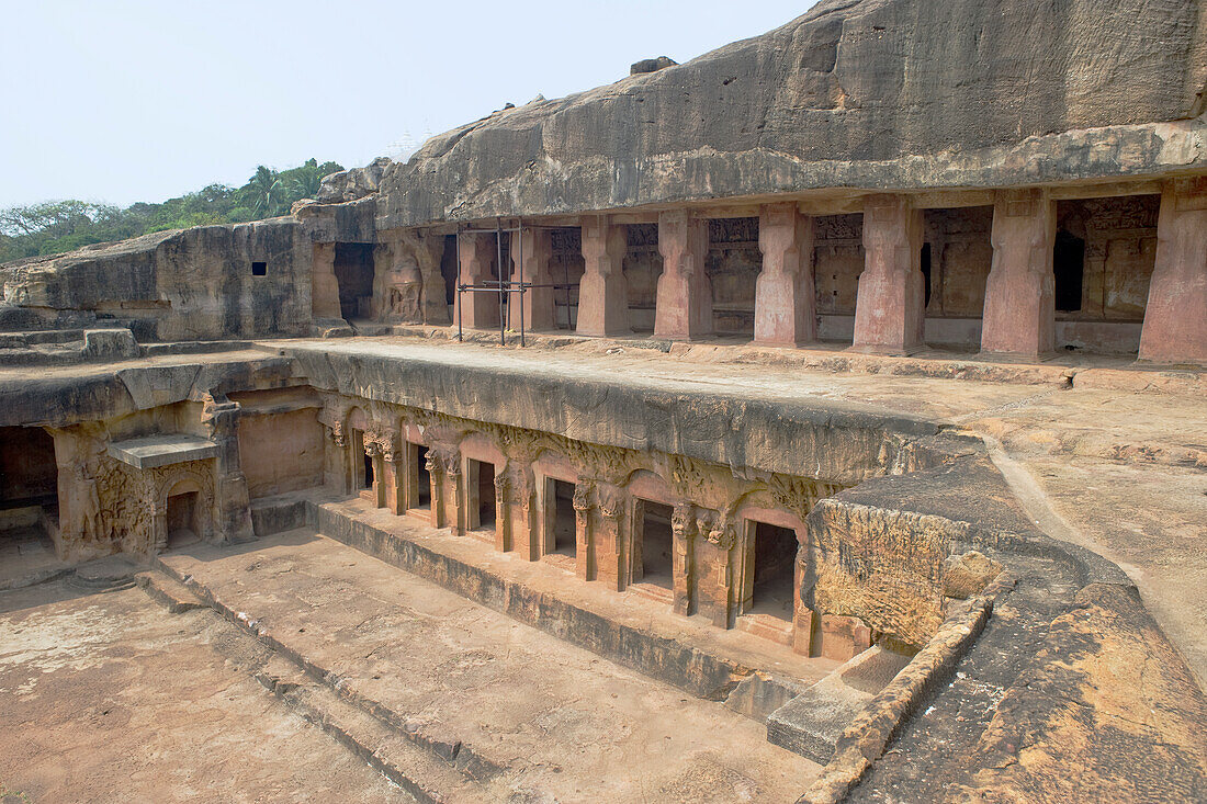
POLYGON ((578 334, 628 336, 629 282, 624 278, 626 229, 606 215, 583 219, 585 273, 578 285, 578 334))

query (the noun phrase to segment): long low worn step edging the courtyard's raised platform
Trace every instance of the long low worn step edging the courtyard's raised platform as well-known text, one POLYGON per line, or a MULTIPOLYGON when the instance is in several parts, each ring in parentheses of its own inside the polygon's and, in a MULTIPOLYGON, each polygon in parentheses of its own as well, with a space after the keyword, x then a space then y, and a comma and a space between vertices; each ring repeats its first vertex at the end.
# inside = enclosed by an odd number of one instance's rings
POLYGON ((253 614, 237 611, 192 576, 180 576, 156 560, 154 575, 168 576, 194 599, 240 627, 247 640, 273 657, 257 678, 295 705, 304 717, 352 748, 366 762, 421 802, 482 802, 484 785, 506 788, 511 768, 482 756, 441 726, 420 722, 356 692, 311 657, 291 649, 253 614), (408 769, 410 769, 408 771, 408 769))

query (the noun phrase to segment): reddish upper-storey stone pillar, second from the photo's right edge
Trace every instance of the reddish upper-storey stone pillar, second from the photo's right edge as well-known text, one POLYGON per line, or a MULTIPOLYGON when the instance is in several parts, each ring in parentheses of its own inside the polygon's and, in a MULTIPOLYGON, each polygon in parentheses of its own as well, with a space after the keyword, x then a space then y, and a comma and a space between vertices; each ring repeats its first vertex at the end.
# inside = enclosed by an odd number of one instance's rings
POLYGON ((1056 348, 1055 239, 1056 203, 1046 191, 998 191, 981 351, 1033 359, 1056 348))

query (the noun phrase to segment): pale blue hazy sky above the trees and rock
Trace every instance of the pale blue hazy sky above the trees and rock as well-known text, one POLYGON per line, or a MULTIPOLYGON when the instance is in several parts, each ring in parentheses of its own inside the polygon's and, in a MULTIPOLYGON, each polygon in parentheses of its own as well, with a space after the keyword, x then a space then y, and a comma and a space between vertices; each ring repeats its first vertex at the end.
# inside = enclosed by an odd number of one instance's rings
POLYGON ((128 205, 267 164, 398 158, 537 94, 777 28, 811 0, 0 0, 0 206, 128 205))

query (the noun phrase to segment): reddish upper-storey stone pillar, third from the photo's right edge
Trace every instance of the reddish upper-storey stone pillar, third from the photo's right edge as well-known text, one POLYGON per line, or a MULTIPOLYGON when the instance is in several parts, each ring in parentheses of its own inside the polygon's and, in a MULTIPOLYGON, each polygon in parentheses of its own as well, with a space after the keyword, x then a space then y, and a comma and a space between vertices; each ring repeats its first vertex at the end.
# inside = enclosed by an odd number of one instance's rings
POLYGON ((909 354, 922 345, 922 210, 903 196, 863 204, 865 261, 855 303, 858 351, 909 354))

